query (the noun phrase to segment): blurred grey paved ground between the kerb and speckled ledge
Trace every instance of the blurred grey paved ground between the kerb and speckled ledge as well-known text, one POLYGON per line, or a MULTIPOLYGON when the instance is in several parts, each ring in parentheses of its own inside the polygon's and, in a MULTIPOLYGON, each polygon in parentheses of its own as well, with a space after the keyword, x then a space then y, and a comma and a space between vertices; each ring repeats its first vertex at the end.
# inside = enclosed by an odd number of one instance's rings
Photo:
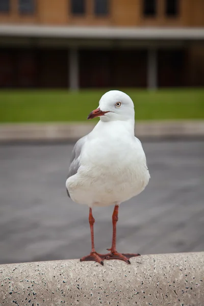
MULTIPOLYGON (((119 211, 118 250, 204 250, 204 142, 143 144, 151 180, 119 211)), ((90 251, 88 208, 66 195, 72 145, 0 146, 0 263, 79 258, 90 251)), ((111 245, 113 207, 94 209, 95 244, 111 245)))

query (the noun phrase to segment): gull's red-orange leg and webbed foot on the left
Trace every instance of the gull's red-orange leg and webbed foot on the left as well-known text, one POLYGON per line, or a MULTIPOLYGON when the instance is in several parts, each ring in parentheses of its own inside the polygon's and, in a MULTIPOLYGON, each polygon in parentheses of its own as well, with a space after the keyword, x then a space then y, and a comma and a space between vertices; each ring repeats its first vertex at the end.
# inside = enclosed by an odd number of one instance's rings
POLYGON ((100 258, 100 254, 96 253, 95 247, 94 247, 94 233, 93 233, 93 224, 95 222, 95 219, 92 215, 92 209, 89 209, 89 224, 91 229, 91 252, 88 256, 82 257, 80 261, 95 261, 101 265, 104 265, 103 259, 100 258))

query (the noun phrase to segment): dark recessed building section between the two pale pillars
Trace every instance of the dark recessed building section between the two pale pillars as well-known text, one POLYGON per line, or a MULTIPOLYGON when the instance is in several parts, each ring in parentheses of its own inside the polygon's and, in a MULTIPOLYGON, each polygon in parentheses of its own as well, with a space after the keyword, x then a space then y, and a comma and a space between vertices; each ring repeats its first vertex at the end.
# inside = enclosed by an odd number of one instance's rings
POLYGON ((80 86, 145 87, 146 64, 145 50, 81 50, 80 86))

